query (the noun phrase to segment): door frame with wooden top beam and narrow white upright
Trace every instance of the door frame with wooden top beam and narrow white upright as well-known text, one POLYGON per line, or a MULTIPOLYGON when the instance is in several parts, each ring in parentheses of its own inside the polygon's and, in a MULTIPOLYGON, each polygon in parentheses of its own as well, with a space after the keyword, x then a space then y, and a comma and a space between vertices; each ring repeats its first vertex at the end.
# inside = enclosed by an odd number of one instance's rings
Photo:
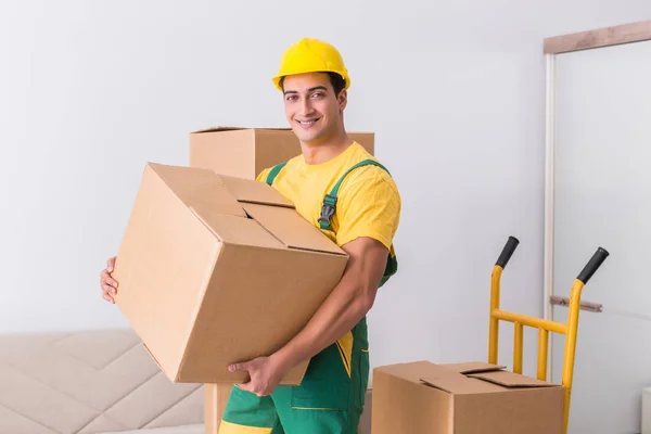
MULTIPOLYGON (((584 50, 597 50, 651 40, 651 20, 602 27, 592 30, 549 37, 544 40, 545 73, 545 254, 544 254, 544 318, 553 321, 553 235, 554 235, 554 150, 556 150, 556 91, 557 56, 584 50)), ((564 321, 561 321, 564 322, 564 321)), ((553 337, 549 339, 547 372, 553 375, 553 337)))

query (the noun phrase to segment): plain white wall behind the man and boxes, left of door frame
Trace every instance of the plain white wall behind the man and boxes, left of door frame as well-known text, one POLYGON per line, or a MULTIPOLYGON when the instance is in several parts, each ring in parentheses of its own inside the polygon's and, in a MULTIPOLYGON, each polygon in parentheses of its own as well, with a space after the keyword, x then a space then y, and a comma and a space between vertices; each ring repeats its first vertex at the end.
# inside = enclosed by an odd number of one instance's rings
POLYGON ((99 272, 143 164, 187 164, 193 129, 284 126, 270 77, 303 36, 341 49, 347 126, 376 132, 404 195, 400 273, 370 315, 372 363, 485 359, 490 271, 510 234, 522 244, 503 307, 541 316, 542 38, 651 5, 385 4, 1 2, 0 331, 126 326, 99 272))

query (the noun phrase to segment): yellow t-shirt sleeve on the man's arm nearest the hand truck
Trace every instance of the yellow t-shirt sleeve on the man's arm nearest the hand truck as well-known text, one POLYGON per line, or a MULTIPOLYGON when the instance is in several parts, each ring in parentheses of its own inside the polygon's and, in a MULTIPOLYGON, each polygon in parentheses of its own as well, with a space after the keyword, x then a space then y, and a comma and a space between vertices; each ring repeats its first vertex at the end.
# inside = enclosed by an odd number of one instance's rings
POLYGON ((337 244, 370 237, 391 248, 400 212, 401 199, 396 184, 378 169, 342 184, 336 204, 337 244))

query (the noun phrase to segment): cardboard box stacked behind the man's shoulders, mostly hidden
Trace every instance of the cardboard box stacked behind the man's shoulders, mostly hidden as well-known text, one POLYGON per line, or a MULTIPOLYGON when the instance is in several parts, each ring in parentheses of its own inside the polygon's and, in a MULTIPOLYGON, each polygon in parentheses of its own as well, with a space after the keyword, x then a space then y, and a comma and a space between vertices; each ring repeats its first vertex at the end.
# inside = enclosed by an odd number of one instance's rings
MULTIPOLYGON (((348 137, 373 154, 374 133, 348 137)), ((190 166, 245 179, 299 154, 298 139, 289 128, 215 127, 190 133, 190 166)))

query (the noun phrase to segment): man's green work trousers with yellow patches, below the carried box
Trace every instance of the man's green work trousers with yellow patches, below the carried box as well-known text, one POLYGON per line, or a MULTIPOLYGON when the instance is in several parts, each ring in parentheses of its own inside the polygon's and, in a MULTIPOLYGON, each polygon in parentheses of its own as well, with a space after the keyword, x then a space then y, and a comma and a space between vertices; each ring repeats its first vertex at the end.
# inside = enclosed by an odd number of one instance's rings
POLYGON ((261 398, 233 387, 219 434, 358 434, 368 378, 365 318, 310 360, 299 386, 261 398))

